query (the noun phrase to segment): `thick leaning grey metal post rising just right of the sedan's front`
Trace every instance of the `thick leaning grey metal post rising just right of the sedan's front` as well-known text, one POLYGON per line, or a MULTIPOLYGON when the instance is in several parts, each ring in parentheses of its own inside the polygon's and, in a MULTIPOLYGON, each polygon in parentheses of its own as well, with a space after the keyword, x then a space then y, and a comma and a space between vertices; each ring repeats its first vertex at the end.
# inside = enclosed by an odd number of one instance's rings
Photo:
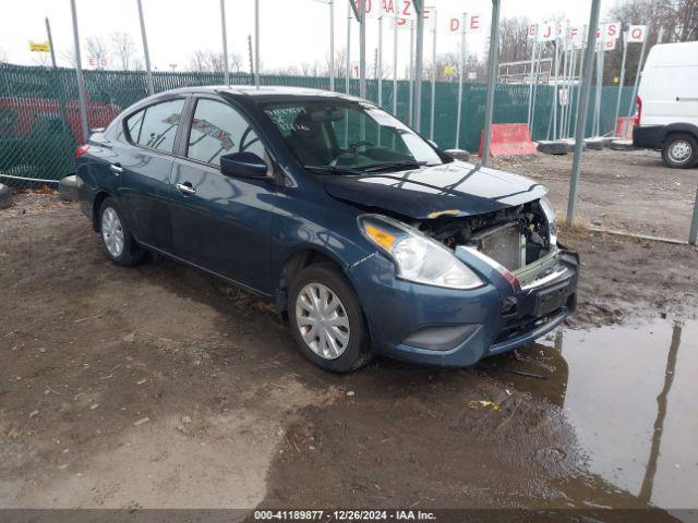
POLYGON ((571 223, 577 206, 577 188, 579 186, 579 170, 581 169, 581 149, 585 145, 585 127, 587 126, 587 111, 589 110, 589 92, 591 89, 591 68, 597 44, 597 27, 599 26, 599 8, 601 0, 591 1, 589 27, 587 28, 587 48, 581 65, 581 90, 577 102, 577 122, 575 130, 575 158, 571 163, 569 180, 569 198, 567 199, 567 221, 571 223))

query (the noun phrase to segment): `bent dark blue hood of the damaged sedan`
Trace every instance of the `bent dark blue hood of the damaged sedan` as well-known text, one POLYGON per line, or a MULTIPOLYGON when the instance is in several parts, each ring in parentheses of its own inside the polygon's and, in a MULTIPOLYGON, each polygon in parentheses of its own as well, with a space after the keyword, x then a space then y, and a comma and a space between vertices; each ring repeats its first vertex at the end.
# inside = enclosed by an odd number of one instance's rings
POLYGON ((547 187, 517 174, 464 161, 409 171, 322 177, 335 198, 413 219, 474 216, 538 199, 547 187))

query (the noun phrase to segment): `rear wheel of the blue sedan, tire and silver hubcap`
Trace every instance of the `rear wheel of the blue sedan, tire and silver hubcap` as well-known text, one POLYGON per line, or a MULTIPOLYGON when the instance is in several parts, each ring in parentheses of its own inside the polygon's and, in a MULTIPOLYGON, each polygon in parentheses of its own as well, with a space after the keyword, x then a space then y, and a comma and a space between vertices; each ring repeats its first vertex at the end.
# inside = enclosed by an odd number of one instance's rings
POLYGON ((132 267, 145 258, 145 251, 133 239, 113 198, 105 199, 99 208, 99 238, 105 254, 116 265, 132 267))

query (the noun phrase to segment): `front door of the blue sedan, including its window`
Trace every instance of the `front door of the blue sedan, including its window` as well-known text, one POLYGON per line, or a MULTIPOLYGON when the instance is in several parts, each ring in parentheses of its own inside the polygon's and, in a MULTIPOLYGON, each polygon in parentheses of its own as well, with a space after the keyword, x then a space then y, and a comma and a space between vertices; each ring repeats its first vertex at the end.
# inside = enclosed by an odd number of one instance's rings
POLYGON ((218 97, 191 101, 191 118, 174 160, 172 240, 176 256, 260 291, 272 292, 269 233, 276 208, 274 179, 220 172, 220 156, 255 153, 272 161, 252 123, 218 97))

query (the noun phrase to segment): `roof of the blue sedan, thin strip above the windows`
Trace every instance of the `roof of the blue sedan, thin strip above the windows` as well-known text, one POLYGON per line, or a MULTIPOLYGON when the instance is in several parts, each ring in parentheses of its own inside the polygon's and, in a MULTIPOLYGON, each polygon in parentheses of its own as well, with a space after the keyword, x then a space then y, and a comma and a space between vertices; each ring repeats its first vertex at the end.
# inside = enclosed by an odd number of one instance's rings
POLYGON ((177 89, 158 93, 153 99, 160 96, 177 94, 224 94, 233 96, 244 96, 260 102, 267 101, 292 101, 293 99, 337 99, 347 101, 363 101, 362 98, 345 95, 324 89, 312 89, 309 87, 288 87, 264 85, 254 87, 252 85, 207 85, 196 87, 180 87, 177 89))

